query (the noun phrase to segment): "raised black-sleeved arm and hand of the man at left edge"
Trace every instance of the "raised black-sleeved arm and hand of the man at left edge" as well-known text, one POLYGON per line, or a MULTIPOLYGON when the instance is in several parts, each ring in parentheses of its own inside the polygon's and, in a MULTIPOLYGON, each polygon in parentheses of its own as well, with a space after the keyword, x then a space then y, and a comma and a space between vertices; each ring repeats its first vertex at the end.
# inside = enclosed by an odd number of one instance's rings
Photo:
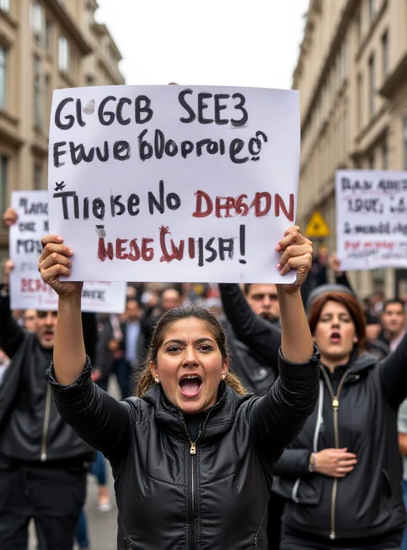
POLYGON ((10 309, 10 272, 13 268, 11 260, 5 262, 4 280, 0 287, 0 348, 10 359, 21 346, 25 331, 12 316, 10 309))

